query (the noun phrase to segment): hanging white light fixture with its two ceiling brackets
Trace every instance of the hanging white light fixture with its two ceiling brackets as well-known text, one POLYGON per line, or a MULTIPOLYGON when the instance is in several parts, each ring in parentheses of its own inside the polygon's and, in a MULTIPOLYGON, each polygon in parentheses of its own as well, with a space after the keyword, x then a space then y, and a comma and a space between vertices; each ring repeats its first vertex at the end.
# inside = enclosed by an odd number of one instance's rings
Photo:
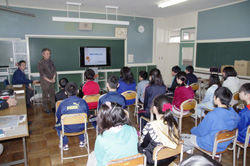
POLYGON ((117 6, 105 6, 106 8, 106 19, 91 19, 91 18, 80 18, 80 6, 81 3, 66 2, 67 5, 67 17, 52 17, 53 21, 60 22, 83 22, 83 23, 96 23, 96 24, 113 24, 113 25, 129 25, 129 21, 119 21, 117 19, 117 6), (69 17, 68 5, 78 6, 78 18, 69 17), (108 9, 115 9, 115 20, 108 19, 108 9))

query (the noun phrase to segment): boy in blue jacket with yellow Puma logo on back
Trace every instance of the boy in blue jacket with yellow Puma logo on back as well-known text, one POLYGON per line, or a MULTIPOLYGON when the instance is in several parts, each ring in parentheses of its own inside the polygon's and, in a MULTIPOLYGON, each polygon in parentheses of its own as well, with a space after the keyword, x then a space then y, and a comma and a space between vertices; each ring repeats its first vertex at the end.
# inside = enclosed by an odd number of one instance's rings
MULTIPOLYGON (((58 135, 60 136, 60 131, 62 130, 61 126, 61 116, 64 114, 77 114, 77 113, 86 113, 88 114, 88 105, 87 103, 79 98, 76 97, 77 95, 77 85, 74 82, 69 82, 66 87, 65 91, 68 95, 68 98, 63 100, 62 103, 59 105, 58 110, 56 112, 57 122, 56 122, 56 130, 58 135)), ((64 130, 67 133, 73 132, 80 132, 84 129, 84 124, 76 124, 76 125, 66 125, 64 126, 64 130)), ((84 135, 79 135, 80 139, 80 147, 84 147, 84 135)), ((63 137, 63 150, 68 150, 68 138, 67 136, 63 137)))

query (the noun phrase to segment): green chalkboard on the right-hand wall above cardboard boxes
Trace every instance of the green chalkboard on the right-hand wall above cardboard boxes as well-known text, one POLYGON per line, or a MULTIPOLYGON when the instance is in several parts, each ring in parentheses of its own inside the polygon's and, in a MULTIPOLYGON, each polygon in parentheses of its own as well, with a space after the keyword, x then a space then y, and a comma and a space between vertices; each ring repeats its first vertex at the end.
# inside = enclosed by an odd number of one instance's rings
POLYGON ((233 65, 235 60, 250 60, 250 41, 197 43, 196 67, 233 65))

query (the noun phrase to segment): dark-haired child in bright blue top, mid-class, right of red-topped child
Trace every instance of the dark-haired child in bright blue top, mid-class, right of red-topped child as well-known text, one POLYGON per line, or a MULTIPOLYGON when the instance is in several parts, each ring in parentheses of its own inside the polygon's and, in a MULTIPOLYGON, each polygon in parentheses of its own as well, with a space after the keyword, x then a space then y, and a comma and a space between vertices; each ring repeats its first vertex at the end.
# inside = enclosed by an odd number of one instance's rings
MULTIPOLYGON (((119 79, 119 87, 117 88, 117 92, 121 94, 128 90, 136 91, 136 83, 130 68, 123 67, 120 71, 120 75, 121 77, 119 79)), ((135 100, 127 100, 126 105, 131 105, 134 102, 135 100)))

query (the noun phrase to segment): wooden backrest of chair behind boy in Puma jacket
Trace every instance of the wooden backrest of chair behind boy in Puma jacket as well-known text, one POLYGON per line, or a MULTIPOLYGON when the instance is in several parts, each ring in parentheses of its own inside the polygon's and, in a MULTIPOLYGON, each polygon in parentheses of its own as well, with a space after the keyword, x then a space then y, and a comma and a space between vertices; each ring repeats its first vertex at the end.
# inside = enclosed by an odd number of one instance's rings
POLYGON ((87 123, 87 114, 86 113, 64 114, 61 117, 61 121, 62 121, 62 126, 87 123))

